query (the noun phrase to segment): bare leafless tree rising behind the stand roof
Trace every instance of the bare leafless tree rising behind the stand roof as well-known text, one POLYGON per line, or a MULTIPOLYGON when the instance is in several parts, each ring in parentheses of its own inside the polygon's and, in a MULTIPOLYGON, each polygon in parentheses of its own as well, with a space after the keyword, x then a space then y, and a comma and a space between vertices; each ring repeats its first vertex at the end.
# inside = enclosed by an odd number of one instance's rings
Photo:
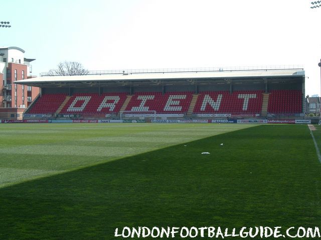
POLYGON ((49 75, 62 75, 62 76, 72 76, 72 75, 86 75, 88 70, 85 69, 81 63, 77 61, 62 61, 57 65, 57 69, 49 70, 49 75))

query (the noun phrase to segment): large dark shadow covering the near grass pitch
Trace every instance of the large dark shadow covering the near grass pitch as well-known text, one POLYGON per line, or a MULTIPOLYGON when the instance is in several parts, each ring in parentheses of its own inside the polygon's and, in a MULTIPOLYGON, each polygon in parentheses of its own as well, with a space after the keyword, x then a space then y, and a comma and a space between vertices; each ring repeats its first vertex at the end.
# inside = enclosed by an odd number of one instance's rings
POLYGON ((114 239, 124 226, 320 225, 321 167, 308 129, 293 129, 242 129, 2 188, 0 239, 114 239))

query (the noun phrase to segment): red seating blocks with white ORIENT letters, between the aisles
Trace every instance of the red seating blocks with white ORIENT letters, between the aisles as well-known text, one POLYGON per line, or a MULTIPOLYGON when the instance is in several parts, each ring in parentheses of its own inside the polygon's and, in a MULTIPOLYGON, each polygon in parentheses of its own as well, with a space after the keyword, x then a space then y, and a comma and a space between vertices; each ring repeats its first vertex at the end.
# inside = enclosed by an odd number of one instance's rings
MULTIPOLYGON (((200 92, 193 113, 253 113, 262 109, 263 92, 260 91, 203 91, 200 92)), ((66 94, 43 94, 30 108, 29 113, 53 114, 61 106, 66 94)), ((60 113, 114 113, 117 114, 126 100, 126 93, 76 93, 63 106, 60 113)), ((193 92, 136 92, 128 102, 126 111, 155 110, 157 113, 187 113, 193 92)), ((299 113, 302 93, 299 90, 272 90, 268 112, 299 113)))

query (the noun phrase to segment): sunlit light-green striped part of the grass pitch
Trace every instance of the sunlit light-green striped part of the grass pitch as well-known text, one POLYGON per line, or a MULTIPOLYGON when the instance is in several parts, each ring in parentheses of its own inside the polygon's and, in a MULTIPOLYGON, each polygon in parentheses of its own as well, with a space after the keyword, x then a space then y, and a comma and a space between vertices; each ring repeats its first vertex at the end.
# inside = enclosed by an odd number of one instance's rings
MULTIPOLYGON (((0 138, 2 145, 0 167, 37 168, 47 171, 50 175, 56 170, 66 171, 107 162, 125 155, 244 127, 250 126, 124 123, 0 124, 0 132, 5 132, 0 138), (164 130, 167 134, 162 135, 164 130)), ((0 169, 0 175, 2 174, 6 173, 0 169)), ((34 174, 30 175, 30 178, 34 177, 34 174)), ((13 184, 14 179, 17 179, 17 182, 28 180, 28 175, 12 172, 10 179, 10 184, 13 184)), ((2 184, 4 185, 6 183, 2 184)))

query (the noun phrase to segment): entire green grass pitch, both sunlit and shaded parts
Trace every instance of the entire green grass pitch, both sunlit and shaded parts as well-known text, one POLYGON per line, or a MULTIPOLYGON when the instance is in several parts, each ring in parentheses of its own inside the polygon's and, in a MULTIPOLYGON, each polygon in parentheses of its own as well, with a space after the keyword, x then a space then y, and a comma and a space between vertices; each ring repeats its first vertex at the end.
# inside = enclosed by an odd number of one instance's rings
MULTIPOLYGON (((124 226, 321 228, 321 163, 306 125, 0 124, 0 133, 1 240, 124 239, 114 237, 124 226)), ((321 128, 313 134, 321 146, 321 128)))

